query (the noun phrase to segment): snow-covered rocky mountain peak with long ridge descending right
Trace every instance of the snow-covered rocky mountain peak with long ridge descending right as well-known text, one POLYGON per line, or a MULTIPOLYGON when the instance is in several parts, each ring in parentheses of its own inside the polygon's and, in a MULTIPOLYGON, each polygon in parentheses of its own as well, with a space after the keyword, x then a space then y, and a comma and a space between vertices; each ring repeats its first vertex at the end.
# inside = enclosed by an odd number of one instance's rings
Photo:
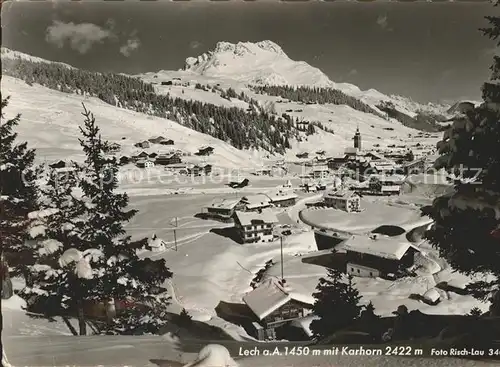
POLYGON ((400 112, 413 117, 417 111, 444 113, 449 106, 421 104, 409 98, 385 95, 375 89, 366 91, 349 83, 335 83, 320 69, 304 61, 290 59, 276 43, 218 42, 211 51, 188 57, 183 68, 201 76, 232 79, 258 85, 302 85, 334 88, 356 97, 368 105, 392 102, 400 112))

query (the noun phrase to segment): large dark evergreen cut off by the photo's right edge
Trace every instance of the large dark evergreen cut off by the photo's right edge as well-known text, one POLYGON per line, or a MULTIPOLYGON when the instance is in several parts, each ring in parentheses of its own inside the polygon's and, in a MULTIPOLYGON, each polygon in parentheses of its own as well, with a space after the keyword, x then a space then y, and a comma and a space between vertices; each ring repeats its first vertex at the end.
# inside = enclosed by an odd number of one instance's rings
MULTIPOLYGON (((500 45, 500 17, 486 17, 483 33, 500 45)), ((469 284, 479 299, 499 290, 500 276, 500 57, 494 56, 491 81, 483 84, 483 103, 462 111, 438 143, 436 168, 454 173, 452 193, 436 198, 423 214, 434 224, 426 238, 440 256, 464 274, 490 273, 495 280, 469 284)), ((498 293, 498 292, 497 292, 498 293)), ((500 297, 490 298, 500 315, 500 297)))

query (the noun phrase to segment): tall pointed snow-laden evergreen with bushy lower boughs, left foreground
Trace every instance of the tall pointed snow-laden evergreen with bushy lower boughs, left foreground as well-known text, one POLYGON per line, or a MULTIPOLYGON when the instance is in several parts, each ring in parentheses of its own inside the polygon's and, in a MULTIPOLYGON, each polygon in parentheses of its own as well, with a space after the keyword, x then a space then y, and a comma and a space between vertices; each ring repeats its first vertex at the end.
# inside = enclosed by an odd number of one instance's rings
MULTIPOLYGON (((75 165, 78 174, 68 181, 49 179, 45 206, 60 209, 46 223, 45 237, 54 251, 39 258, 33 269, 36 287, 26 293, 41 294, 46 308, 50 305, 57 313, 76 313, 80 335, 86 335, 85 305, 96 303, 113 313, 102 332, 158 333, 168 305, 162 284, 172 273, 165 260, 138 257, 137 250, 147 241, 132 241, 124 230, 136 211, 127 210, 126 194, 116 193, 118 163, 108 157, 109 143, 101 139, 85 106, 83 115, 80 144, 86 159, 75 165), (71 193, 75 183, 80 197, 71 193), (116 310, 118 304, 126 306, 116 310)), ((50 313, 54 311, 45 310, 50 313)))

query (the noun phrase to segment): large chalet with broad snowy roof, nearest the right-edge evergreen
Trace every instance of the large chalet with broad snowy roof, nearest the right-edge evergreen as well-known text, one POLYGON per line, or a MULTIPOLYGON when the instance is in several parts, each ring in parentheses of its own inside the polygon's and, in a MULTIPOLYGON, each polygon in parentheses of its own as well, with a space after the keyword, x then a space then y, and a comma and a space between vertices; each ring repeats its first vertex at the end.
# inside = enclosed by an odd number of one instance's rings
POLYGON ((379 277, 398 274, 414 265, 420 250, 407 241, 376 234, 352 236, 342 244, 346 251, 347 274, 379 277))

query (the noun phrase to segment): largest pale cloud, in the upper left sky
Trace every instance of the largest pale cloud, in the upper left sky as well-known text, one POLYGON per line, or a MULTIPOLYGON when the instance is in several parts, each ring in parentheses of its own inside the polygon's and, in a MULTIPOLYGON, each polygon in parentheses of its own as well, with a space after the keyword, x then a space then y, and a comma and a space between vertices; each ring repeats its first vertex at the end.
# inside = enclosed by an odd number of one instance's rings
POLYGON ((106 39, 113 39, 116 36, 109 30, 93 23, 64 23, 55 20, 47 28, 45 40, 59 48, 66 43, 71 49, 85 54, 96 43, 102 43, 106 39))

